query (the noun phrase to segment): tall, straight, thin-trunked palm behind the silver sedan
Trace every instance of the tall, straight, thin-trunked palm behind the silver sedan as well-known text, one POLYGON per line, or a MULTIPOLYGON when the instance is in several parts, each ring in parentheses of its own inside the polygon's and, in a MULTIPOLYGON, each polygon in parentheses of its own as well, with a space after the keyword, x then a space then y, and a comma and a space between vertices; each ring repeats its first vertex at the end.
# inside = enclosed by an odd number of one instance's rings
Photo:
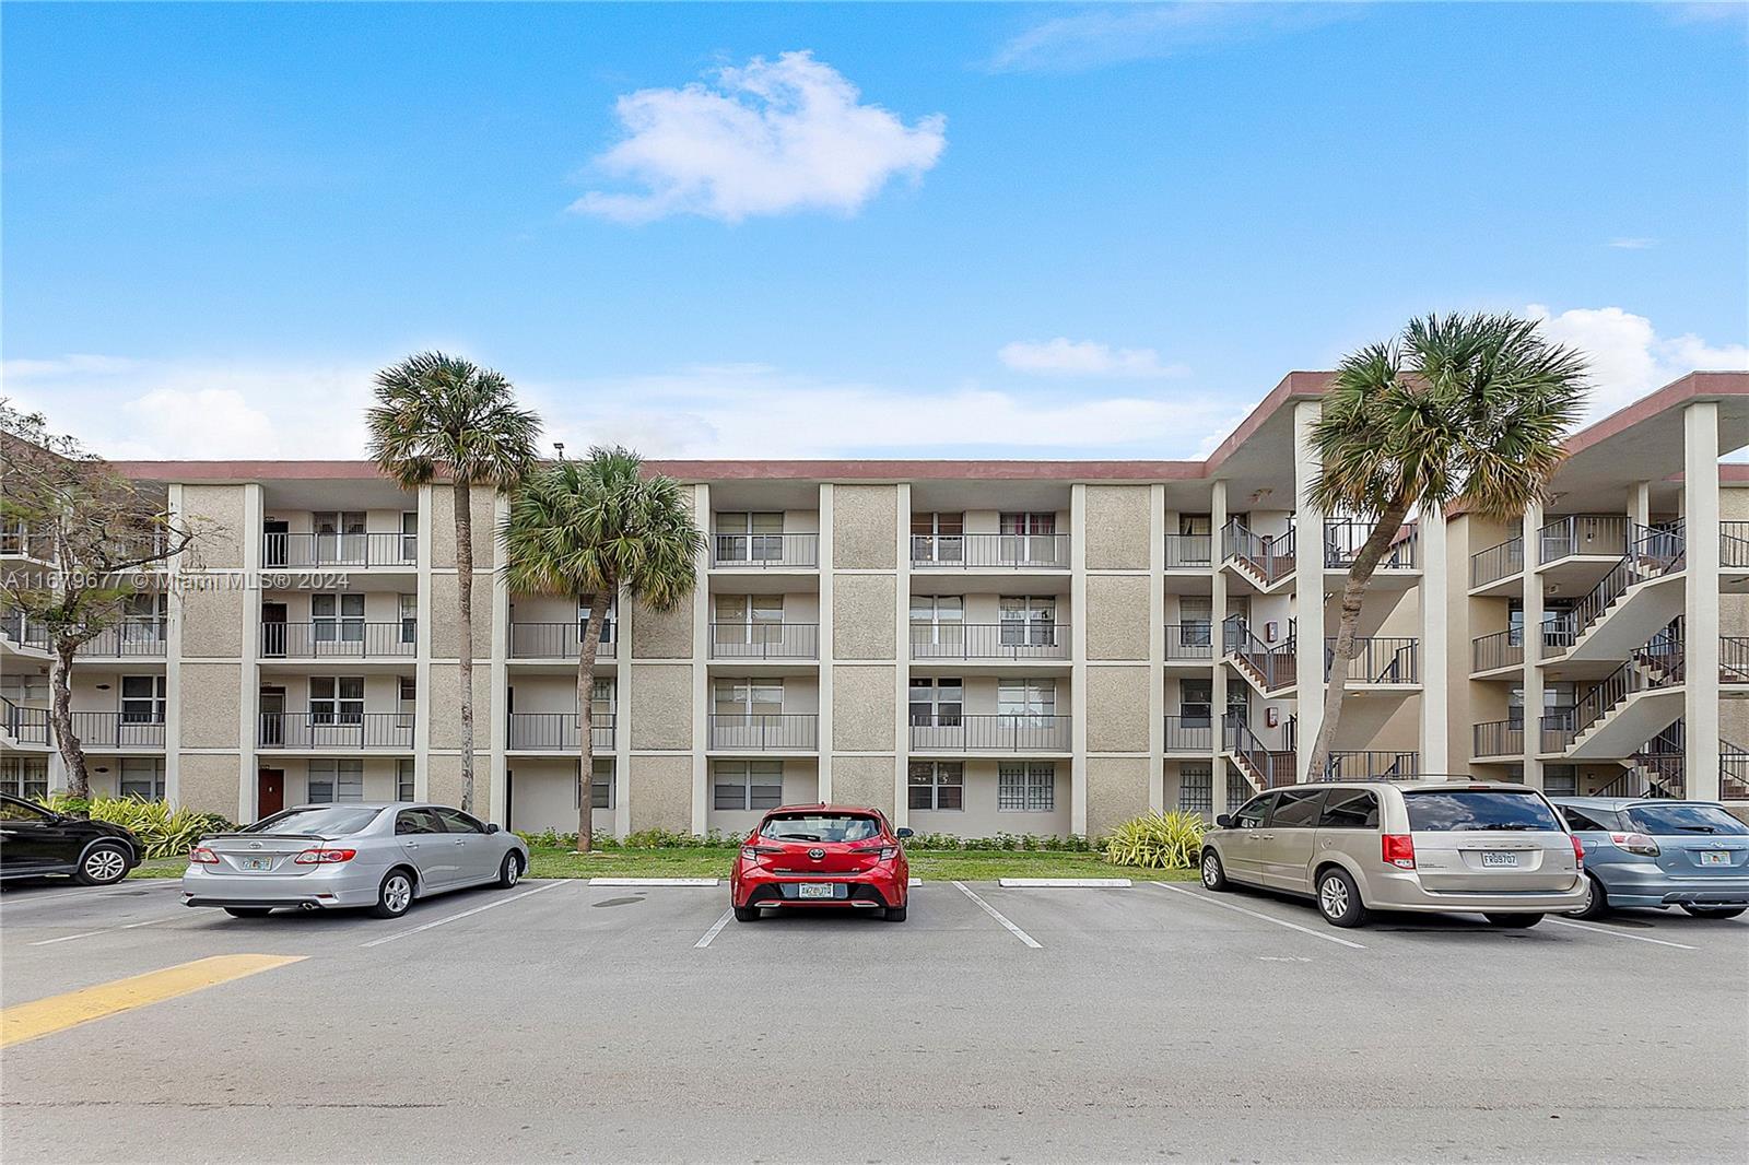
POLYGON ((460 616, 462 808, 474 810, 474 486, 509 490, 535 465, 540 418, 516 408, 502 373, 422 352, 376 374, 366 411, 369 453, 413 490, 442 476, 455 490, 456 614, 460 616))

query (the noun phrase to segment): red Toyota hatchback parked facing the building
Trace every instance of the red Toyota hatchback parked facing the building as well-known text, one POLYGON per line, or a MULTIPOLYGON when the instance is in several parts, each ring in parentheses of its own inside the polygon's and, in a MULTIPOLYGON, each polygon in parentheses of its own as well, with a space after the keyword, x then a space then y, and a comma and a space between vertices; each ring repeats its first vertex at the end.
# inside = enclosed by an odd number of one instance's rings
POLYGON ((854 805, 785 805, 764 815, 735 859, 735 918, 754 922, 768 906, 859 906, 904 922, 911 866, 880 810, 854 805))

